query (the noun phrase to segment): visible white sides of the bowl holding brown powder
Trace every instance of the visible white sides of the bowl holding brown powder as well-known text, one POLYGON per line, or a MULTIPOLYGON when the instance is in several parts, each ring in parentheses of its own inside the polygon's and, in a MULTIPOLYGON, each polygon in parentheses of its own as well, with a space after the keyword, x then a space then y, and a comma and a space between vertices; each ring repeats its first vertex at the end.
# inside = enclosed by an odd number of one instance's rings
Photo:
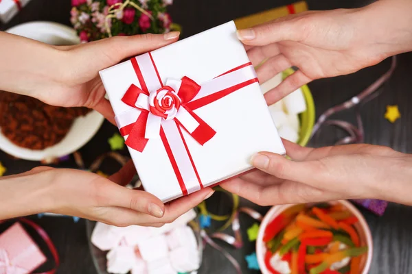
MULTIPOLYGON (((24 36, 52 45, 76 45, 79 38, 74 29, 52 22, 32 22, 16 25, 6 32, 24 36)), ((65 138, 58 144, 43 150, 25 149, 14 145, 0 132, 0 149, 14 157, 40 161, 50 158, 59 158, 77 151, 98 132, 104 117, 92 111, 84 117, 78 117, 65 138)))

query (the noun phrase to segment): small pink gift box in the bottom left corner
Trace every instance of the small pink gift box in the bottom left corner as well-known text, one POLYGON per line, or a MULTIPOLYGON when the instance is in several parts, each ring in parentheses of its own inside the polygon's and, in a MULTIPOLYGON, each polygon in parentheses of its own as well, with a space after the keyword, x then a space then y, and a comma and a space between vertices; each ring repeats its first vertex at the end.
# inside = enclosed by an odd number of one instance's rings
POLYGON ((20 223, 0 235, 0 274, 32 273, 46 260, 20 223))

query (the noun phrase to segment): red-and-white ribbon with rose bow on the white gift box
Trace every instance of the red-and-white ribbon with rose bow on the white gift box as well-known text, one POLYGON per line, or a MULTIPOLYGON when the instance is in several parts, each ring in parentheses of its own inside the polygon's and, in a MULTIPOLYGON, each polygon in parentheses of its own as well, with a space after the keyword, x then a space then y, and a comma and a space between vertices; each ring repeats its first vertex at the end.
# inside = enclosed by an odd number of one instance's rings
POLYGON ((188 194, 185 183, 192 180, 203 188, 181 129, 200 145, 211 140, 216 132, 194 110, 258 83, 253 65, 243 64, 202 85, 189 77, 167 79, 163 85, 151 53, 130 62, 141 88, 134 84, 128 88, 122 101, 133 109, 116 116, 126 145, 143 152, 150 138, 161 138, 183 195, 188 194))

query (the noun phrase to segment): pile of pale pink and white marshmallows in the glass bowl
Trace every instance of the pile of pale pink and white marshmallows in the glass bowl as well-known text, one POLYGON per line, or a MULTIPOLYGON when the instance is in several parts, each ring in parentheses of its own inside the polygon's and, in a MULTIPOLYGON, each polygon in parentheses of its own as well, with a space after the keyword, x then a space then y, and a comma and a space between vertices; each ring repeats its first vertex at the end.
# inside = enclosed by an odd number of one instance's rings
POLYGON ((198 241, 187 223, 190 210, 163 227, 114 227, 97 223, 91 242, 107 253, 107 272, 113 274, 177 274, 196 271, 201 258, 198 241))

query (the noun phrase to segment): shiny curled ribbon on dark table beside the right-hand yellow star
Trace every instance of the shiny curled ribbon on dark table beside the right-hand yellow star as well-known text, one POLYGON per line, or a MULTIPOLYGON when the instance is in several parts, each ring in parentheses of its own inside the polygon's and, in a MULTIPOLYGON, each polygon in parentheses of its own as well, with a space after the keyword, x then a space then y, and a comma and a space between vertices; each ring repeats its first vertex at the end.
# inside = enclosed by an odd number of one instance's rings
POLYGON ((313 130, 312 130, 312 135, 310 138, 313 138, 314 134, 316 134, 320 127, 323 124, 326 125, 334 125, 335 127, 339 127, 345 132, 347 132, 350 136, 347 136, 338 142, 336 142, 336 145, 344 145, 344 144, 350 144, 350 143, 358 143, 358 142, 364 142, 365 140, 365 131, 363 129, 363 122, 362 122, 362 117, 361 117, 361 112, 360 108, 362 105, 365 103, 371 101, 371 99, 374 99, 380 95, 380 92, 376 92, 382 84, 387 82, 389 78, 391 78, 393 71, 396 69, 396 56, 392 57, 391 60, 391 67, 389 70, 379 77, 373 84, 371 84, 369 87, 367 87, 365 90, 363 90, 361 93, 356 95, 355 97, 352 97, 350 100, 345 101, 344 103, 341 103, 340 105, 336 105, 325 112, 321 116, 319 116, 319 119, 317 123, 314 125, 313 130), (352 125, 351 123, 348 123, 346 121, 339 121, 339 120, 327 120, 330 116, 333 114, 336 114, 338 112, 341 112, 343 110, 349 110, 350 108, 355 108, 356 111, 356 123, 357 126, 352 125))

